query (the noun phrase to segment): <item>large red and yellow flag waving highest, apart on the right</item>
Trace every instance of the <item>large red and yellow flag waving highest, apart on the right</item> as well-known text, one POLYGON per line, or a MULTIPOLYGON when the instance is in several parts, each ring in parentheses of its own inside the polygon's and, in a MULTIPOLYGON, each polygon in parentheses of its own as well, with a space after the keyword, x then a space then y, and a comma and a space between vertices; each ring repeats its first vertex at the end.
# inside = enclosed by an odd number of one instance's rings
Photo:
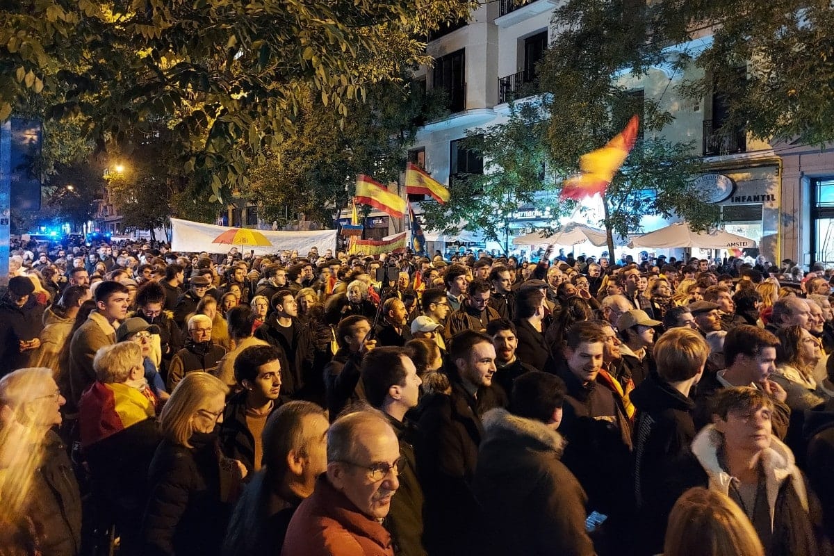
POLYGON ((614 174, 623 165, 628 153, 631 153, 639 126, 640 119, 632 116, 625 129, 617 133, 605 147, 582 155, 580 173, 565 180, 560 197, 579 201, 595 193, 605 193, 614 174))

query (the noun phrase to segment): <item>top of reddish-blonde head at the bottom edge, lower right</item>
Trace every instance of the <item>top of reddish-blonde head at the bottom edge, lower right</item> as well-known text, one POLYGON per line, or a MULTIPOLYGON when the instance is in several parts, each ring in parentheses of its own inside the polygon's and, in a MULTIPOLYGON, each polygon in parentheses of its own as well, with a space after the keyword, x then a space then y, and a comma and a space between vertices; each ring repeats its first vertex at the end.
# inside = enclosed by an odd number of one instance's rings
POLYGON ((765 549, 738 504, 696 487, 669 514, 663 556, 765 556, 765 549))

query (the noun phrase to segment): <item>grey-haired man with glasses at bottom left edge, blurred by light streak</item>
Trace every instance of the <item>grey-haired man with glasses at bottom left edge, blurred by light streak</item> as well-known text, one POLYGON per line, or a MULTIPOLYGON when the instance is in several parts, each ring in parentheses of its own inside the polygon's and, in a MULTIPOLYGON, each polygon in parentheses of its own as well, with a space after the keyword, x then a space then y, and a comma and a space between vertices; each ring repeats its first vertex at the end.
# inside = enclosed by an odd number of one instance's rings
MULTIPOLYGON (((19 524, 21 533, 38 531, 40 553, 76 556, 81 496, 67 448, 52 430, 61 424, 65 402, 48 368, 22 368, 0 379, 0 515, 4 528, 19 524), (24 479, 28 488, 22 488, 24 479)), ((3 530, 4 537, 8 533, 3 530)))

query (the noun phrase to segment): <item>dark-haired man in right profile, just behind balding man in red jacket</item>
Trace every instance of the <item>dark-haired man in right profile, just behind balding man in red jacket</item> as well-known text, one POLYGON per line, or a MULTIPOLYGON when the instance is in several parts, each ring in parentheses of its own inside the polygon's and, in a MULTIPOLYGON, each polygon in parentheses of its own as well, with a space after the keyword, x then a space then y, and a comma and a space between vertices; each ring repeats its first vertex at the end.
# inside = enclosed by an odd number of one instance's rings
POLYGON ((414 443, 417 430, 405 414, 417 407, 420 384, 414 363, 402 348, 377 348, 365 355, 361 380, 368 402, 384 413, 399 440, 405 464, 399 468, 401 488, 391 500, 386 525, 401 556, 425 556, 423 488, 417 480, 414 443))

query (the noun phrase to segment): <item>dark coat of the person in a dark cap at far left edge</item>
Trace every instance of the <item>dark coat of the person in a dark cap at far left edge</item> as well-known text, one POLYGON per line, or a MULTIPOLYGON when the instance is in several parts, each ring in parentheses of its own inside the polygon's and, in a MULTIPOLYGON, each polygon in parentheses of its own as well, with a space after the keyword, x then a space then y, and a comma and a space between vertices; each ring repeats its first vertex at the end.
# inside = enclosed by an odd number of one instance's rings
POLYGON ((43 305, 30 295, 23 307, 8 298, 0 302, 0 377, 29 366, 33 350, 20 351, 21 340, 38 338, 43 330, 43 305))

